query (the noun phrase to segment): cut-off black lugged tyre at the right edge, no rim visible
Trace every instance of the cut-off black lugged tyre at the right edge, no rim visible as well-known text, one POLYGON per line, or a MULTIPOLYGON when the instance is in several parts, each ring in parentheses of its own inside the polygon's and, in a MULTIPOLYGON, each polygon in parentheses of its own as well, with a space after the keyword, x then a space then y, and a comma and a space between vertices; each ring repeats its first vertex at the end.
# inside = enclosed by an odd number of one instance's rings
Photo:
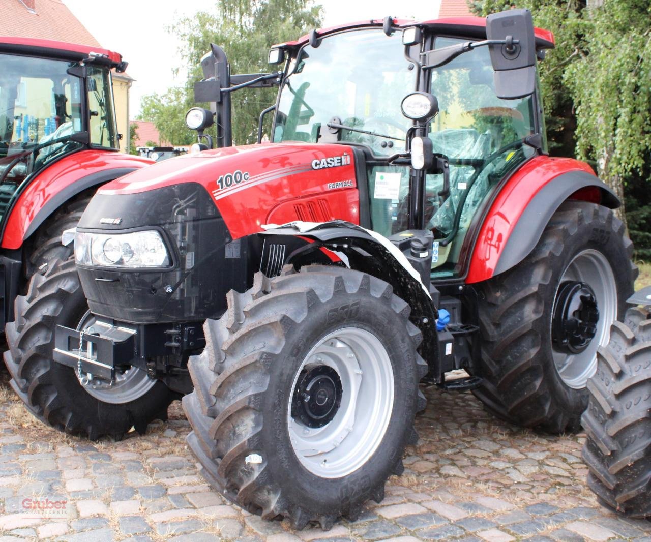
POLYGON ((588 486, 608 508, 651 518, 651 314, 631 308, 597 355, 583 414, 588 486))

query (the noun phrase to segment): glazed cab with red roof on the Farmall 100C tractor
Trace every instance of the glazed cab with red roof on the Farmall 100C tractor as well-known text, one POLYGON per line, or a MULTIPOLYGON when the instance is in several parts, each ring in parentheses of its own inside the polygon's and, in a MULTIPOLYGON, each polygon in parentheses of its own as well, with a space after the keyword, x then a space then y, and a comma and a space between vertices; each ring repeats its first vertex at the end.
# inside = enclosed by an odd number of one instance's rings
POLYGON ((508 33, 503 18, 415 24, 387 18, 381 27, 312 33, 271 49, 273 60, 288 57, 272 141, 360 149, 368 226, 386 237, 430 230, 432 278, 464 273, 465 237, 492 189, 546 152, 535 61, 536 53, 542 57, 553 47, 553 36, 528 32, 529 14, 508 17, 518 23, 508 33), (516 42, 514 53, 503 54, 507 39, 516 42), (401 110, 412 92, 437 102, 420 124, 401 110), (442 160, 414 172, 405 157, 417 135, 427 137, 428 152, 442 160))

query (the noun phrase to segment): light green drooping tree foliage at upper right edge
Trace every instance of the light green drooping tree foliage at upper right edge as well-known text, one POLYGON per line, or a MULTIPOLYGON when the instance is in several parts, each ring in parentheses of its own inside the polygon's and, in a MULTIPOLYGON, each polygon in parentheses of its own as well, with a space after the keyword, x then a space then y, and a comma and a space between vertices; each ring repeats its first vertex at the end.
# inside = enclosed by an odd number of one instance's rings
POLYGON ((585 49, 564 72, 576 106, 577 151, 623 199, 651 150, 651 1, 605 0, 583 10, 585 49))

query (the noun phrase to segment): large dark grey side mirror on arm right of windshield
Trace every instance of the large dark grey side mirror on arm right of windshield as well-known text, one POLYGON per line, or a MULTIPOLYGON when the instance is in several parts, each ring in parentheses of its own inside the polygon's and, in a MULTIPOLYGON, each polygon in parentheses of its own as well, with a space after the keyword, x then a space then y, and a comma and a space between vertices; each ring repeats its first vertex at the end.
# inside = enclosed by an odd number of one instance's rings
POLYGON ((497 96, 514 100, 533 94, 536 88, 536 37, 531 12, 514 9, 489 15, 486 17, 486 38, 506 41, 503 45, 488 46, 495 70, 497 96))

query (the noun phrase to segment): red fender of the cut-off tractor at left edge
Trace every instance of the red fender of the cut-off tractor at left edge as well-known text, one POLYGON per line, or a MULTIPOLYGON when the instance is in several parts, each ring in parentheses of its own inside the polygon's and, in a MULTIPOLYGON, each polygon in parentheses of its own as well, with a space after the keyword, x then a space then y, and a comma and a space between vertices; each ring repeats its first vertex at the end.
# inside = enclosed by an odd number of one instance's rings
MULTIPOLYGON (((107 170, 141 169, 154 161, 106 150, 83 150, 63 157, 36 175, 7 219, 3 249, 20 249, 29 225, 48 202, 79 180, 107 170)), ((74 194, 71 194, 74 195, 74 194)))

